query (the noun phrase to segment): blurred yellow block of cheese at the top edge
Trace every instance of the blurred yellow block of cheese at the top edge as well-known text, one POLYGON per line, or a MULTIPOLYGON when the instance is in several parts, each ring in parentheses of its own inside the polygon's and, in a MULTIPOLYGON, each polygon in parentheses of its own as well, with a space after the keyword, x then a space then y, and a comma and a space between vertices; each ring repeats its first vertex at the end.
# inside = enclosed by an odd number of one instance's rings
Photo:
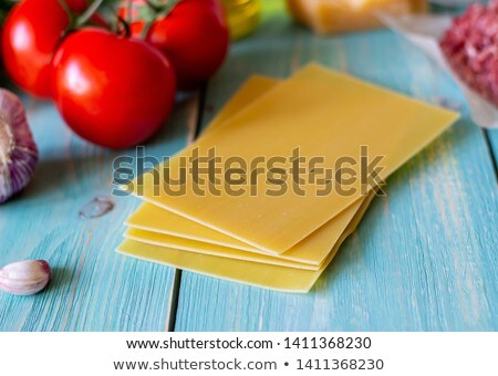
POLYGON ((375 12, 388 14, 419 13, 426 0, 287 0, 293 19, 318 34, 366 30, 381 22, 375 12))

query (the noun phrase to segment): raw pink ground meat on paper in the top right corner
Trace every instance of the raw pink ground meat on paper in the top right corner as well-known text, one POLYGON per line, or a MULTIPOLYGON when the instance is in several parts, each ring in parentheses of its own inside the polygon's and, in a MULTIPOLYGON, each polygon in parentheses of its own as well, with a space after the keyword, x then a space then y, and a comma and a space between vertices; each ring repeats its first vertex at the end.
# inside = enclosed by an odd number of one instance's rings
POLYGON ((471 4, 440 40, 458 76, 498 106, 498 0, 471 4))

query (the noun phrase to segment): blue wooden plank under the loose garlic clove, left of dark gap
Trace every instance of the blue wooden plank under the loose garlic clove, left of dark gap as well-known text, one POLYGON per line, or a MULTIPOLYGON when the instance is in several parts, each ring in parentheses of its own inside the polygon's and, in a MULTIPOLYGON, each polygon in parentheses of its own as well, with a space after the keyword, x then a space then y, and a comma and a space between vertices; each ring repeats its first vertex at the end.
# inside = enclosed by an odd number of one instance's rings
MULTIPOLYGON (((167 328, 175 270, 114 252, 139 200, 115 198, 108 215, 79 217, 85 202, 111 195, 113 159, 134 149, 92 146, 65 127, 52 104, 24 101, 41 160, 29 188, 0 209, 0 264, 46 259, 54 278, 38 295, 0 293, 0 331, 167 328)), ((184 98, 146 154, 162 158, 183 148, 197 104, 197 96, 184 98)))

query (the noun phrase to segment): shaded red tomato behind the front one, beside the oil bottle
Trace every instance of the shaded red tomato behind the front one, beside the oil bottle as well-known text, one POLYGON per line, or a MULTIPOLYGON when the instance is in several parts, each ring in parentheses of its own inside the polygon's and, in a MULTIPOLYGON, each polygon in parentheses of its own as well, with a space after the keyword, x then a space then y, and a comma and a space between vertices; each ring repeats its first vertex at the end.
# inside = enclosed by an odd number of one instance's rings
MULTIPOLYGON (((134 2, 141 4, 143 0, 134 2)), ((134 22, 134 35, 142 32, 143 25, 142 21, 134 22)), ((220 1, 181 0, 152 25, 146 40, 169 58, 178 88, 199 86, 218 71, 228 51, 228 28, 220 1)))

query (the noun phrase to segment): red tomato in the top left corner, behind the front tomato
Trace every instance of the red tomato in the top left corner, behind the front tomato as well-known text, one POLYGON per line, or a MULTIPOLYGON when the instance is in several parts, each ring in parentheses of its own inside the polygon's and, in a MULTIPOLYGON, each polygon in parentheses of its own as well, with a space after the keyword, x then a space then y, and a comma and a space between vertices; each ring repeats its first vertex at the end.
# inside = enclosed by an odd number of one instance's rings
MULTIPOLYGON (((86 0, 65 0, 75 13, 86 0)), ((70 25, 59 0, 23 0, 9 13, 2 30, 3 64, 9 76, 27 92, 50 97, 50 63, 70 25)))

